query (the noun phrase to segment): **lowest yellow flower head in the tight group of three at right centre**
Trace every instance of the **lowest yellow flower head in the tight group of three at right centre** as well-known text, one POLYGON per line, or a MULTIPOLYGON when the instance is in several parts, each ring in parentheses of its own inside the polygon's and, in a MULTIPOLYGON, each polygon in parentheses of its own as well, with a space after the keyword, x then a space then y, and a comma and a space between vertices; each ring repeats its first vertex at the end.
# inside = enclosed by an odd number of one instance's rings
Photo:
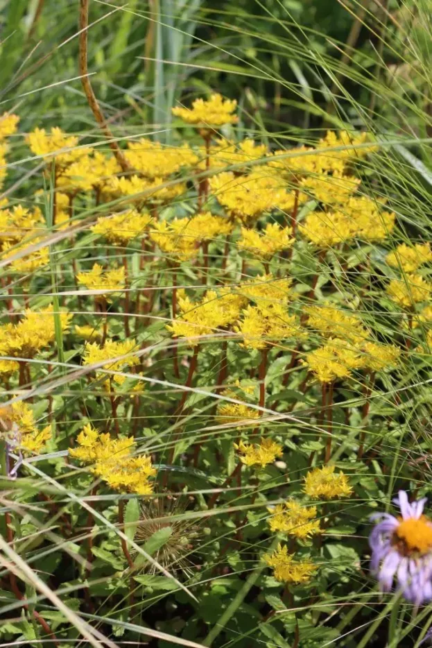
POLYGON ((306 353, 302 364, 308 366, 320 382, 327 383, 348 378, 353 369, 363 366, 363 361, 359 350, 343 340, 332 339, 324 346, 306 353))

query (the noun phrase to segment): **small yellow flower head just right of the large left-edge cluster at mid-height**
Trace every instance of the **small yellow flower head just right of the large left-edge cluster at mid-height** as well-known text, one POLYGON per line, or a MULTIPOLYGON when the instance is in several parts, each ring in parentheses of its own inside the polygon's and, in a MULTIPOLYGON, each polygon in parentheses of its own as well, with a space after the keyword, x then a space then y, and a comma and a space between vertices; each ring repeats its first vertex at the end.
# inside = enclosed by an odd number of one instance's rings
MULTIPOLYGON (((137 350, 135 340, 125 340, 124 342, 107 340, 102 347, 96 343, 89 343, 85 346, 84 365, 88 366, 106 360, 101 367, 96 369, 96 380, 98 380, 106 376, 106 370, 122 371, 126 367, 139 364, 139 358, 132 355, 134 350, 137 350)), ((111 381, 121 385, 125 380, 126 377, 122 375, 108 376, 103 385, 105 389, 110 389, 111 381)))

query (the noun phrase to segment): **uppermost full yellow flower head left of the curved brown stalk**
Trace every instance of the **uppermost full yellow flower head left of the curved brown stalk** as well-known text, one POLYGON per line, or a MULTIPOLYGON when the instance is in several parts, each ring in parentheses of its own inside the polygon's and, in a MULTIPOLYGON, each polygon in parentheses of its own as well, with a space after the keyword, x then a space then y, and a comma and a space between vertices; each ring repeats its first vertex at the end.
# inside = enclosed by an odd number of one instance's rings
POLYGON ((44 128, 35 128, 27 135, 26 142, 32 153, 43 155, 46 162, 55 157, 55 164, 58 167, 71 164, 92 151, 92 148, 87 147, 75 148, 78 146, 79 138, 75 135, 66 135, 58 126, 51 128, 50 134, 46 133, 44 128))

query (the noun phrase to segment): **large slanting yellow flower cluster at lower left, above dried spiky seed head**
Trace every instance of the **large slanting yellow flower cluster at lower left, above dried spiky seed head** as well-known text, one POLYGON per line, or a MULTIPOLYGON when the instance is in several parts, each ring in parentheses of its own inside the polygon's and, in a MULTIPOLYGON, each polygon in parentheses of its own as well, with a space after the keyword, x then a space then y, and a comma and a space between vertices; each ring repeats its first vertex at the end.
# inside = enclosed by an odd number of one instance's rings
POLYGON ((69 454, 83 463, 92 464, 92 472, 106 481, 110 488, 126 493, 151 495, 156 475, 150 457, 145 454, 133 457, 135 441, 127 438, 111 438, 100 434, 92 425, 85 425, 78 434, 79 447, 71 448, 69 454))

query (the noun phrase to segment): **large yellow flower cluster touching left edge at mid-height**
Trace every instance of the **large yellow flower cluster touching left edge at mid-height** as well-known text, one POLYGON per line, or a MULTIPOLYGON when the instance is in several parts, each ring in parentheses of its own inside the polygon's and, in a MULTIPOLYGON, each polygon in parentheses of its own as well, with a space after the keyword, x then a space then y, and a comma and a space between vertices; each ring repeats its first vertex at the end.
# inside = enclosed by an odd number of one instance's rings
MULTIPOLYGON (((62 331, 69 327, 71 315, 60 312, 62 331)), ((0 355, 33 358, 55 339, 53 306, 40 311, 26 309, 17 324, 0 326, 0 355)))

